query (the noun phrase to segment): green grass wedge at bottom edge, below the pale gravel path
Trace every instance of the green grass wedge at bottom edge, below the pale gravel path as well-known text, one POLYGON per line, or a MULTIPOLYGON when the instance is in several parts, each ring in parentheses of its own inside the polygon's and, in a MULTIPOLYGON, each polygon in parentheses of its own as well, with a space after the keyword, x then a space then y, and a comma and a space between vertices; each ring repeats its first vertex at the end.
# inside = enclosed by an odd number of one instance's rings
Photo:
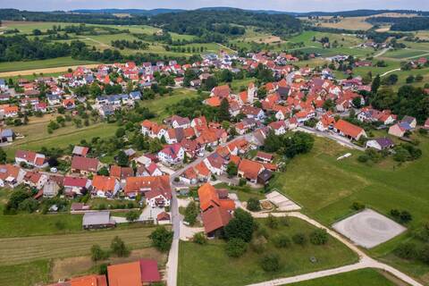
POLYGON ((290 286, 395 286, 382 273, 370 268, 357 270, 349 273, 341 273, 324 278, 318 278, 306 282, 288 284, 290 286))

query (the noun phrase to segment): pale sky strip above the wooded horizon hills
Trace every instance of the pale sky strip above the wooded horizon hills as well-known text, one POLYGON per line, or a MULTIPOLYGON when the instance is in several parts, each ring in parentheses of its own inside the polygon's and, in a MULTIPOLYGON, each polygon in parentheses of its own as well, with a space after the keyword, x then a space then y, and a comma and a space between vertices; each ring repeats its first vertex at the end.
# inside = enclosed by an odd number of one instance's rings
POLYGON ((287 12, 346 11, 356 9, 406 9, 429 11, 429 0, 0 0, 0 8, 29 11, 74 9, 155 9, 228 6, 287 12))

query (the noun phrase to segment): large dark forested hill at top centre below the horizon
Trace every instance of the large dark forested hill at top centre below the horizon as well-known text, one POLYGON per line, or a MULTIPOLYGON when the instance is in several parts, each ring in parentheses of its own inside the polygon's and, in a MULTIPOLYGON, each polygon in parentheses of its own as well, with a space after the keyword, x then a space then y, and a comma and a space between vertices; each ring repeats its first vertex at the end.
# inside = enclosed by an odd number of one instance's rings
POLYGON ((255 26, 280 37, 301 30, 300 21, 290 15, 253 13, 240 9, 164 13, 150 18, 148 23, 172 32, 195 35, 215 42, 224 42, 227 36, 242 35, 245 29, 237 25, 255 26))

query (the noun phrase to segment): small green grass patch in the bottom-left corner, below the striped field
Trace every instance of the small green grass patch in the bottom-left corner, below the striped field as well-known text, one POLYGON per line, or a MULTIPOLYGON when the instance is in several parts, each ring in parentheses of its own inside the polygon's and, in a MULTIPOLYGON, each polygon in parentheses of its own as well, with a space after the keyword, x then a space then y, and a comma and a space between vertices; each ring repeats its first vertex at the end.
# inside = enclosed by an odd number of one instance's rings
POLYGON ((0 266, 0 285, 33 286, 49 282, 50 261, 48 259, 27 262, 21 265, 0 266))

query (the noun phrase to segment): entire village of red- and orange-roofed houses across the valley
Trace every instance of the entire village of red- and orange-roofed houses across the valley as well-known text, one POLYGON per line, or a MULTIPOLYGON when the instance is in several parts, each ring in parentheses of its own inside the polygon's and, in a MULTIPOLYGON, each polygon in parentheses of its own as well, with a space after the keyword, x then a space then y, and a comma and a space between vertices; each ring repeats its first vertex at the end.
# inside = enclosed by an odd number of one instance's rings
MULTIPOLYGON (((333 62, 337 60, 332 58, 333 62)), ((418 126, 414 117, 399 118, 391 110, 377 110, 367 105, 363 94, 371 91, 371 86, 365 85, 360 77, 335 80, 329 68, 299 68, 294 65, 297 62, 297 57, 283 53, 261 52, 246 58, 222 53, 182 65, 174 61, 101 64, 92 69, 82 66, 57 78, 18 79, 10 83, 0 80, 3 103, 0 114, 4 118, 1 135, 2 144, 7 147, 20 140, 13 131, 13 122, 25 121, 27 114, 74 116, 79 106, 90 106, 97 116, 107 120, 120 110, 144 105, 144 90, 159 84, 156 75, 171 78, 173 81, 166 86, 172 90, 183 88, 185 81, 189 85, 184 88, 198 90, 215 71, 232 74, 264 71, 268 78, 274 79, 251 81, 240 92, 234 92, 228 84, 206 92, 202 103, 214 110, 226 108, 226 118, 230 119, 227 123, 207 120, 205 114, 194 118, 171 114, 161 121, 149 118, 140 122, 139 133, 147 140, 162 142, 162 146, 146 154, 124 148, 125 164, 119 164, 118 158, 115 164, 105 164, 91 155, 90 147, 74 145, 71 153, 61 157, 70 166, 58 170, 56 160, 50 160, 46 154, 19 149, 13 160, 0 166, 0 186, 31 189, 35 200, 66 199, 70 207, 61 208, 53 203, 46 212, 84 214, 82 228, 88 231, 130 222, 172 224, 172 230, 180 232, 174 240, 192 240, 200 231, 214 239, 220 236, 236 209, 247 209, 249 204, 231 192, 234 187, 264 195, 261 205, 265 211, 300 209, 270 188, 270 180, 276 172, 282 172, 285 158, 266 151, 266 139, 305 133, 331 139, 332 144, 351 149, 394 154, 396 143, 388 135, 409 142, 412 132, 429 130, 429 120, 418 126), (192 71, 191 78, 189 71, 192 71), (100 92, 89 99, 75 92, 83 86, 97 86, 100 92), (121 90, 107 95, 109 86, 120 86, 121 90), (383 130, 385 135, 371 136, 372 130, 377 130, 377 134, 383 130), (97 209, 86 204, 97 198, 112 207, 97 209), (115 201, 120 201, 120 206, 115 207, 115 201), (199 205, 200 227, 192 227, 180 214, 180 206, 186 207, 189 202, 199 205), (138 209, 138 215, 131 219, 118 215, 129 209, 138 209)), ((299 148, 299 143, 296 144, 299 148)), ((174 242, 173 248, 178 248, 174 242)), ((170 255, 177 254, 171 252, 170 255)), ((167 279, 173 279, 175 274, 168 275, 167 279)), ((98 286, 107 283, 105 275, 90 275, 55 285, 80 285, 82 279, 94 281, 92 285, 98 286)), ((163 277, 156 261, 140 260, 110 265, 107 279, 109 285, 124 285, 126 281, 129 281, 127 285, 137 285, 160 282, 163 277)))

